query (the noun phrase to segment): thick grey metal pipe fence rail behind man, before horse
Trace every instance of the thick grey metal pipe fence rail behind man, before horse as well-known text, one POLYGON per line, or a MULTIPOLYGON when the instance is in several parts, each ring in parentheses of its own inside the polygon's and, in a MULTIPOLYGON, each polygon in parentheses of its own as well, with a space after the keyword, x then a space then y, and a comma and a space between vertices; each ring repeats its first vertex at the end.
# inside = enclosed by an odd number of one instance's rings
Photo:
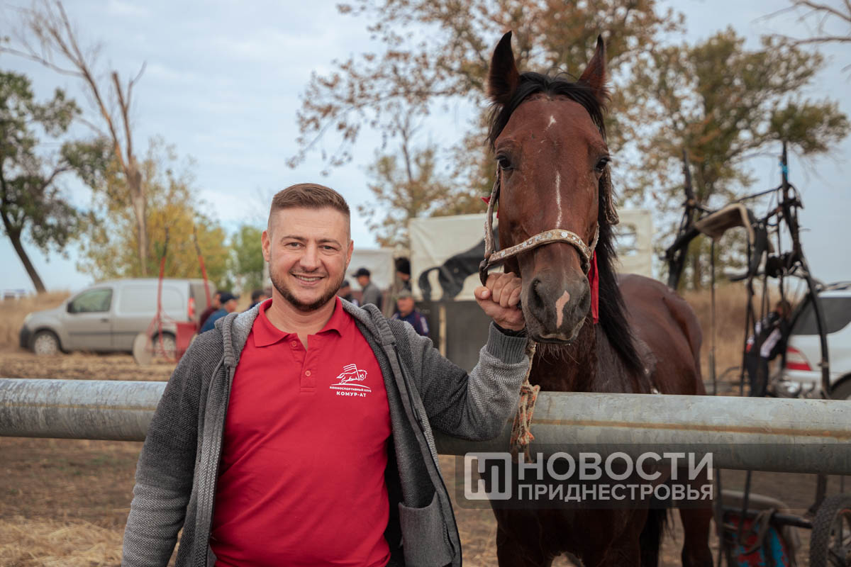
MULTIPOLYGON (((0 378, 0 436, 141 441, 164 382, 0 378)), ((435 432, 444 455, 506 451, 511 421, 491 441, 435 432)), ((531 452, 595 445, 711 451, 717 468, 851 474, 851 403, 722 396, 542 392, 531 452)))

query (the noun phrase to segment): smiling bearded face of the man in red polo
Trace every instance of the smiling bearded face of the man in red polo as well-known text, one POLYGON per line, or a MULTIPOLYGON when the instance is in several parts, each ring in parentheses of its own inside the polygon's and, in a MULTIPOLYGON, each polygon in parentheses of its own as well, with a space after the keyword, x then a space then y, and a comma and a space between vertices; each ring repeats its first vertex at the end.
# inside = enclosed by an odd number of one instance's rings
POLYGON ((300 311, 334 300, 351 260, 349 217, 331 208, 284 208, 263 232, 272 285, 300 311))

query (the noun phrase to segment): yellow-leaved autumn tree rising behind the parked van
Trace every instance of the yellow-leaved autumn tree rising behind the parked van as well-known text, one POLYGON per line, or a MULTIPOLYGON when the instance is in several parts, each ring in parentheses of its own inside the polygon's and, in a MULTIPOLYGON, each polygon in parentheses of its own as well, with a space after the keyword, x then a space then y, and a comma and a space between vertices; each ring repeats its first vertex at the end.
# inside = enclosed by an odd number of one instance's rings
MULTIPOLYGON (((229 257, 225 230, 197 207, 191 174, 186 167, 183 173, 175 171, 174 149, 164 145, 162 139, 151 140, 146 158, 140 162, 146 226, 153 252, 144 266, 134 252, 138 249, 134 212, 122 205, 122 197, 129 190, 125 178, 114 161, 109 161, 105 170, 92 166, 105 159, 94 154, 90 151, 81 160, 89 166, 88 179, 95 190, 93 212, 85 225, 83 259, 78 268, 96 279, 158 274, 160 258, 165 252, 167 277, 200 277, 194 233, 209 279, 216 286, 223 285, 229 257)), ((108 157, 111 154, 107 151, 108 157)))

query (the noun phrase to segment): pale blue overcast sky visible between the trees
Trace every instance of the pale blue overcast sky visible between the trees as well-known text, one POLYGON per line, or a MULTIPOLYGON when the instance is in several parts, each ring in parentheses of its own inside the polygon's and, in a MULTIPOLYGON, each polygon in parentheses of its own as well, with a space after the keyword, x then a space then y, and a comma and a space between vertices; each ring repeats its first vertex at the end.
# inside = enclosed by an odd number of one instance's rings
MULTIPOLYGON (((144 154, 147 139, 162 135, 180 156, 194 158, 205 210, 230 231, 243 222, 256 221, 263 200, 289 184, 318 180, 340 190, 352 208, 368 200, 365 167, 380 144, 375 134, 363 137, 350 165, 327 178, 318 174, 323 164, 316 153, 297 169, 285 164, 297 149, 295 112, 311 72, 328 71, 332 60, 363 51, 368 40, 364 21, 338 14, 334 4, 328 0, 65 3, 81 37, 103 43, 102 63, 130 77, 146 62, 145 74, 134 91, 138 153, 144 154)), ((26 3, 0 0, 0 5, 5 7, 3 19, 8 21, 9 6, 26 3)), ((751 48, 757 47, 760 35, 770 31, 807 33, 791 16, 760 20, 783 8, 783 0, 679 0, 667 5, 686 14, 692 42, 727 26, 747 37, 751 48)), ((498 40, 494 37, 494 45, 498 40)), ((851 71, 842 71, 851 65, 851 45, 823 46, 821 51, 829 64, 808 94, 838 100, 842 111, 851 116, 851 71)), ((62 87, 85 105, 79 85, 71 77, 6 54, 0 55, 0 69, 26 73, 39 100, 62 87)), ((460 139, 469 117, 469 109, 459 106, 436 122, 426 123, 423 135, 448 147, 460 139)), ((333 148, 333 143, 328 147, 333 148)), ((813 167, 802 167, 794 156, 791 160, 791 180, 806 207, 801 216, 807 230, 802 235, 804 250, 814 275, 824 281, 851 280, 849 156, 851 141, 846 139, 813 167)), ((773 156, 755 158, 750 165, 760 179, 754 190, 779 184, 773 156)), ((89 204, 85 190, 72 183, 68 187, 77 204, 89 204)), ((352 237, 356 247, 376 246, 357 213, 352 218, 352 237)), ((45 258, 35 247, 26 249, 49 289, 77 290, 92 282, 90 276, 77 272, 73 247, 68 259, 58 255, 45 258)), ((0 291, 32 289, 5 236, 0 237, 0 266, 0 291)))

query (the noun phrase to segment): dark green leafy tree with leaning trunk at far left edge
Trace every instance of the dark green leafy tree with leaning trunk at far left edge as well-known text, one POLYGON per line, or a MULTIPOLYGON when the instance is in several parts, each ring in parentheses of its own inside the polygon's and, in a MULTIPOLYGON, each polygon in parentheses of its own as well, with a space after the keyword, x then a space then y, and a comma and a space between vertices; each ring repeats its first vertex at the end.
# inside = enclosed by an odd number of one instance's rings
POLYGON ((0 72, 0 218, 3 234, 37 292, 44 291, 44 284, 23 240, 26 236, 45 253, 52 248, 63 252, 77 233, 77 210, 56 184, 70 165, 63 156, 41 155, 33 128, 41 128, 50 137, 60 136, 78 113, 77 105, 61 90, 39 104, 27 77, 0 72))

